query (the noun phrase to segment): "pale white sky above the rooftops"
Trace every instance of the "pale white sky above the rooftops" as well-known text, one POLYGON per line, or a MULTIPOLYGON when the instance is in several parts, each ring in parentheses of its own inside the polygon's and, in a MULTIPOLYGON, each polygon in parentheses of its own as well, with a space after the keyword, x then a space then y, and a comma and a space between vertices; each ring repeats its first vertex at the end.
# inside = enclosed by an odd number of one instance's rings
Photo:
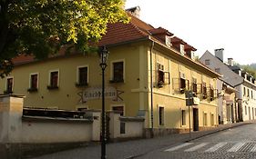
POLYGON ((127 0, 140 7, 140 19, 163 27, 189 45, 196 55, 224 48, 224 61, 256 63, 255 0, 127 0))

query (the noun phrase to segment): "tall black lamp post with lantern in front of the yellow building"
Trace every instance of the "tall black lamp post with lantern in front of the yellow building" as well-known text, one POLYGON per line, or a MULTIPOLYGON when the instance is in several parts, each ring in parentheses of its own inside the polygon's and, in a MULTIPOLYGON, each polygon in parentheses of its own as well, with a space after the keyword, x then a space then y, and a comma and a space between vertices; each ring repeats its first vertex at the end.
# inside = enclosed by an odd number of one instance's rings
POLYGON ((99 50, 100 67, 102 70, 102 110, 101 110, 101 159, 106 159, 106 114, 105 114, 105 69, 107 67, 108 50, 103 46, 99 50))

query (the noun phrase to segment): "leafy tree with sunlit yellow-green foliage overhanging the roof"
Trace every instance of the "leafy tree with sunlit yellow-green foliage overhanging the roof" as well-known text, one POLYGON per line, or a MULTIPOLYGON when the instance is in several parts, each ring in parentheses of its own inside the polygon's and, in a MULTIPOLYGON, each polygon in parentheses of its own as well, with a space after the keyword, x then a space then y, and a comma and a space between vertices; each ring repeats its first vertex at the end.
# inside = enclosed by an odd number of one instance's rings
MULTIPOLYGON (((0 0, 0 76, 19 54, 37 59, 61 46, 87 52, 108 23, 128 22, 124 0, 0 0)), ((67 50, 68 50, 67 49, 67 50)))

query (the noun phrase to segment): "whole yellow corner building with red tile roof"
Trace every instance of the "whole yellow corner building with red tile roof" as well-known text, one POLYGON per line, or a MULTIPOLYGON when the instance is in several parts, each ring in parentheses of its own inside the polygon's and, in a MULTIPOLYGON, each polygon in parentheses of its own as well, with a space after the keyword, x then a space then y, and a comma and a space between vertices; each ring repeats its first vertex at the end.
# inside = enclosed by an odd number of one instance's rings
MULTIPOLYGON (((99 42, 110 52, 105 72, 107 111, 145 115, 145 127, 153 124, 156 134, 188 131, 185 93, 191 90, 200 99, 190 107, 191 129, 218 124, 219 75, 197 62, 196 49, 168 30, 128 15, 128 25, 108 25, 107 35, 99 42)), ((26 107, 101 109, 97 55, 60 54, 41 61, 21 55, 14 63, 12 73, 0 81, 0 89, 5 94, 25 94, 26 107)))

